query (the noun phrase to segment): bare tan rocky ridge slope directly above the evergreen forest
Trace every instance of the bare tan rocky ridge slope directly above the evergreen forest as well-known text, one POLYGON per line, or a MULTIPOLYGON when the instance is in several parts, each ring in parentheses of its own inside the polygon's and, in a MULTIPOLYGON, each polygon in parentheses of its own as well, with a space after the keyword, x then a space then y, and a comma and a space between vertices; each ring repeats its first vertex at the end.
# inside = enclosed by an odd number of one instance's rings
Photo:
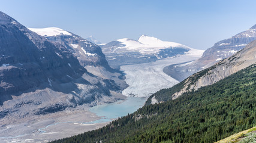
MULTIPOLYGON (((151 103, 174 100, 180 95, 189 91, 197 91, 197 89, 212 85, 239 70, 245 69, 256 63, 256 41, 252 41, 245 48, 234 54, 233 56, 219 61, 214 66, 189 76, 187 79, 173 86, 169 97, 161 97, 161 95, 152 95, 148 101, 151 103)), ((160 91, 161 92, 161 91, 160 91)))

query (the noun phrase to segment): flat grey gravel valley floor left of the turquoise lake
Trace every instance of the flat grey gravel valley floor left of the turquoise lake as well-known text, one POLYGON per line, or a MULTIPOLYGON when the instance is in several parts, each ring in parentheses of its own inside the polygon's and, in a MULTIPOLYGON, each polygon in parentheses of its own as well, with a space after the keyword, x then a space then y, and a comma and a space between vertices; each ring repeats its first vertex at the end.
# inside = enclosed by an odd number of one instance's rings
POLYGON ((0 125, 6 125, 0 127, 0 142, 49 142, 98 129, 109 123, 94 123, 101 117, 86 109, 88 107, 80 106, 58 113, 34 116, 32 119, 16 120, 10 116, 5 117, 0 120, 0 125))

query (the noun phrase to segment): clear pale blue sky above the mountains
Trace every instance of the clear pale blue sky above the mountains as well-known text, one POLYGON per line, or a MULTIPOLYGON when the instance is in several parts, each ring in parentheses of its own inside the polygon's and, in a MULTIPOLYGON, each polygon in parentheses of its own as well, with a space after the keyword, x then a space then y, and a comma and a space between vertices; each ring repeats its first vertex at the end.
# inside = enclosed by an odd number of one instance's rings
POLYGON ((101 43, 146 34, 207 49, 256 24, 255 0, 0 0, 31 28, 59 27, 101 43))

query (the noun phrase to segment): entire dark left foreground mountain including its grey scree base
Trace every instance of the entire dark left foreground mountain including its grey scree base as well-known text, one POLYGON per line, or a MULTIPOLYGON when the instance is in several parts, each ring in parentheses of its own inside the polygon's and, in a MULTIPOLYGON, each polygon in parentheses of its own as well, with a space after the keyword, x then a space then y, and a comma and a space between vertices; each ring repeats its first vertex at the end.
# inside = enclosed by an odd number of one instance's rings
POLYGON ((122 98, 109 90, 109 81, 81 66, 67 47, 37 35, 1 11, 0 80, 0 119, 122 98))

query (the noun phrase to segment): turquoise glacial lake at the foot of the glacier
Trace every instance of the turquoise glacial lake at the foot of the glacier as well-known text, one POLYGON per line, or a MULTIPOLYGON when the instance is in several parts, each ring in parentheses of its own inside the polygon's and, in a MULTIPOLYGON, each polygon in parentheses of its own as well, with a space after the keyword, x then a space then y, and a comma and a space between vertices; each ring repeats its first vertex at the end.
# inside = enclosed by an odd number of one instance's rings
POLYGON ((142 107, 146 100, 147 97, 128 97, 122 101, 94 106, 90 108, 89 111, 97 114, 97 116, 101 117, 101 119, 90 123, 110 122, 118 117, 126 116, 128 113, 133 113, 134 111, 138 110, 138 108, 142 107))

